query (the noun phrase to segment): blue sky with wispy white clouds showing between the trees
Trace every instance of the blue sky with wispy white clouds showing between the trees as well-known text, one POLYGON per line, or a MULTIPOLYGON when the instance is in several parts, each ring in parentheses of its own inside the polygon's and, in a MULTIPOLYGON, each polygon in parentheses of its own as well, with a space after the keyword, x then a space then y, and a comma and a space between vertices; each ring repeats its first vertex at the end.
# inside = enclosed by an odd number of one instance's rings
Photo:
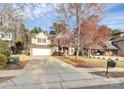
MULTIPOLYGON (((57 4, 29 4, 25 10, 25 25, 27 28, 41 27, 49 31, 49 27, 56 21, 52 10, 57 4)), ((106 11, 102 24, 111 28, 124 29, 124 4, 105 4, 106 11)))

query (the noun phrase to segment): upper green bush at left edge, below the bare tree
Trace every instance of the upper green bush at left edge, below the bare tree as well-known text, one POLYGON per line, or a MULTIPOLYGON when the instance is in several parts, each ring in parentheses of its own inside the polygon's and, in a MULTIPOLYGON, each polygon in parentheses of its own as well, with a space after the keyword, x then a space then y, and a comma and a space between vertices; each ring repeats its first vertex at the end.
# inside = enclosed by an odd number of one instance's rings
POLYGON ((0 40, 0 53, 5 56, 10 56, 10 48, 7 43, 0 40))

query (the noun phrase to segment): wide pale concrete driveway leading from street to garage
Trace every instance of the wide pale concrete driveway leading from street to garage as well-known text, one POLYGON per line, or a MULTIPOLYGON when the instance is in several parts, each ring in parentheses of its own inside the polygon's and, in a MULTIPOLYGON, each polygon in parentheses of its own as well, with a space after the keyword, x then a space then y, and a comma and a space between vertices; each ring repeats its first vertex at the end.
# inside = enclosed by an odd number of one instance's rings
POLYGON ((0 88, 62 89, 120 84, 124 78, 106 78, 89 73, 97 69, 75 68, 54 57, 32 57, 23 73, 0 83, 0 88))

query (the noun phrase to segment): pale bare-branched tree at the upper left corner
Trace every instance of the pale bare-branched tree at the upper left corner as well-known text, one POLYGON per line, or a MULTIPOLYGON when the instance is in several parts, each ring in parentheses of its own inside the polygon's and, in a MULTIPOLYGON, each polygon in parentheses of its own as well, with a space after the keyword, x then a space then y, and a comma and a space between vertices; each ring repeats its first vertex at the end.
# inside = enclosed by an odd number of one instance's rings
POLYGON ((15 40, 20 25, 24 23, 22 11, 25 6, 25 4, 3 4, 0 6, 0 31, 11 32, 14 35, 15 40))

